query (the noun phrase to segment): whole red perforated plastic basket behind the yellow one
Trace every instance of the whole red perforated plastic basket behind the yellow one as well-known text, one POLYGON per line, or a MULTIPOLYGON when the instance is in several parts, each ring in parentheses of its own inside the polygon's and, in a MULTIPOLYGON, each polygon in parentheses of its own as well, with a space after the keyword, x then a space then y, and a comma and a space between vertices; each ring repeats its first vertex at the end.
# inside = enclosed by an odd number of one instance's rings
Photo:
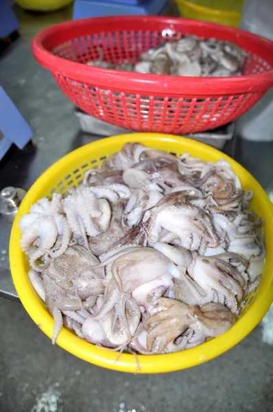
POLYGON ((69 21, 40 32, 32 43, 69 99, 110 124, 139 131, 187 134, 233 121, 273 85, 273 43, 242 30, 162 16, 115 16, 69 21), (237 43, 249 53, 244 76, 191 78, 87 66, 118 63, 184 34, 237 43))

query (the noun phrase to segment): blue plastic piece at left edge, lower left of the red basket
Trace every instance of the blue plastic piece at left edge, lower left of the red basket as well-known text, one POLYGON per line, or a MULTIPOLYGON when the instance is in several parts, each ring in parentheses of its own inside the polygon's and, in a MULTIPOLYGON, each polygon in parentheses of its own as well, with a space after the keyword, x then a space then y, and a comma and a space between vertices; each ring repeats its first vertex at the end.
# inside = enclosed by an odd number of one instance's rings
POLYGON ((0 160, 12 144, 23 149, 33 132, 18 108, 0 86, 0 160))

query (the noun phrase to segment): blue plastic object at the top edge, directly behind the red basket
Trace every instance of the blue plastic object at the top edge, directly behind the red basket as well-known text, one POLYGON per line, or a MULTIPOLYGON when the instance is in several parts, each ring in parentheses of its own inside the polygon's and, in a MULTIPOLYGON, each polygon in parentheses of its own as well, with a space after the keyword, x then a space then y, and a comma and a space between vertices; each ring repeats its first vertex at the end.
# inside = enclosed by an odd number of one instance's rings
POLYGON ((149 14, 165 14, 169 8, 168 0, 76 0, 73 8, 73 19, 102 16, 147 16, 149 14))

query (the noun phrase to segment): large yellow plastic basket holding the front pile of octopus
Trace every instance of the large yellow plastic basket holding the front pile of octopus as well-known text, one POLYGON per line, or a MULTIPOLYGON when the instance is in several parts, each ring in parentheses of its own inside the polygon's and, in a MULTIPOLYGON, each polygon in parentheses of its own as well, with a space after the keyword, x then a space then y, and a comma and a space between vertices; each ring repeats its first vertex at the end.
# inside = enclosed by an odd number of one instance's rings
MULTIPOLYGON (((141 366, 139 373, 141 374, 156 374, 186 369, 209 361, 239 343, 239 341, 244 339, 259 321, 261 321, 272 302, 273 207, 259 183, 241 165, 222 152, 201 144, 198 141, 184 137, 160 135, 156 133, 136 133, 101 139, 82 146, 69 153, 69 155, 64 156, 46 170, 34 185, 32 185, 19 208, 10 237, 10 267, 12 279, 25 310, 27 310, 29 316, 32 317, 38 328, 43 330, 43 332, 51 338, 54 330, 54 321, 45 304, 35 293, 29 282, 27 275, 29 270, 27 257, 21 251, 19 244, 21 238, 21 232, 18 227, 19 220, 23 214, 29 211, 30 205, 35 203, 38 198, 51 196, 54 192, 65 193, 69 187, 73 187, 74 185, 78 186, 86 170, 89 168, 97 168, 103 159, 113 152, 120 150, 127 141, 139 141, 152 148, 166 150, 177 155, 189 152, 192 156, 200 157, 200 159, 204 161, 215 162, 221 158, 226 159, 234 172, 238 174, 244 189, 248 190, 251 188, 253 190, 254 199, 252 207, 257 211, 259 216, 263 216, 265 221, 265 244, 268 254, 263 269, 262 281, 259 288, 246 298, 246 304, 244 308, 241 309, 239 320, 233 328, 222 336, 218 336, 203 345, 183 352, 154 356, 138 356, 141 366)), ((132 354, 122 354, 117 360, 117 353, 101 349, 91 343, 83 341, 78 338, 78 336, 75 336, 73 332, 69 332, 69 330, 64 328, 62 328, 58 336, 57 343, 64 350, 84 359, 84 361, 108 369, 136 373, 137 365, 132 354)))

